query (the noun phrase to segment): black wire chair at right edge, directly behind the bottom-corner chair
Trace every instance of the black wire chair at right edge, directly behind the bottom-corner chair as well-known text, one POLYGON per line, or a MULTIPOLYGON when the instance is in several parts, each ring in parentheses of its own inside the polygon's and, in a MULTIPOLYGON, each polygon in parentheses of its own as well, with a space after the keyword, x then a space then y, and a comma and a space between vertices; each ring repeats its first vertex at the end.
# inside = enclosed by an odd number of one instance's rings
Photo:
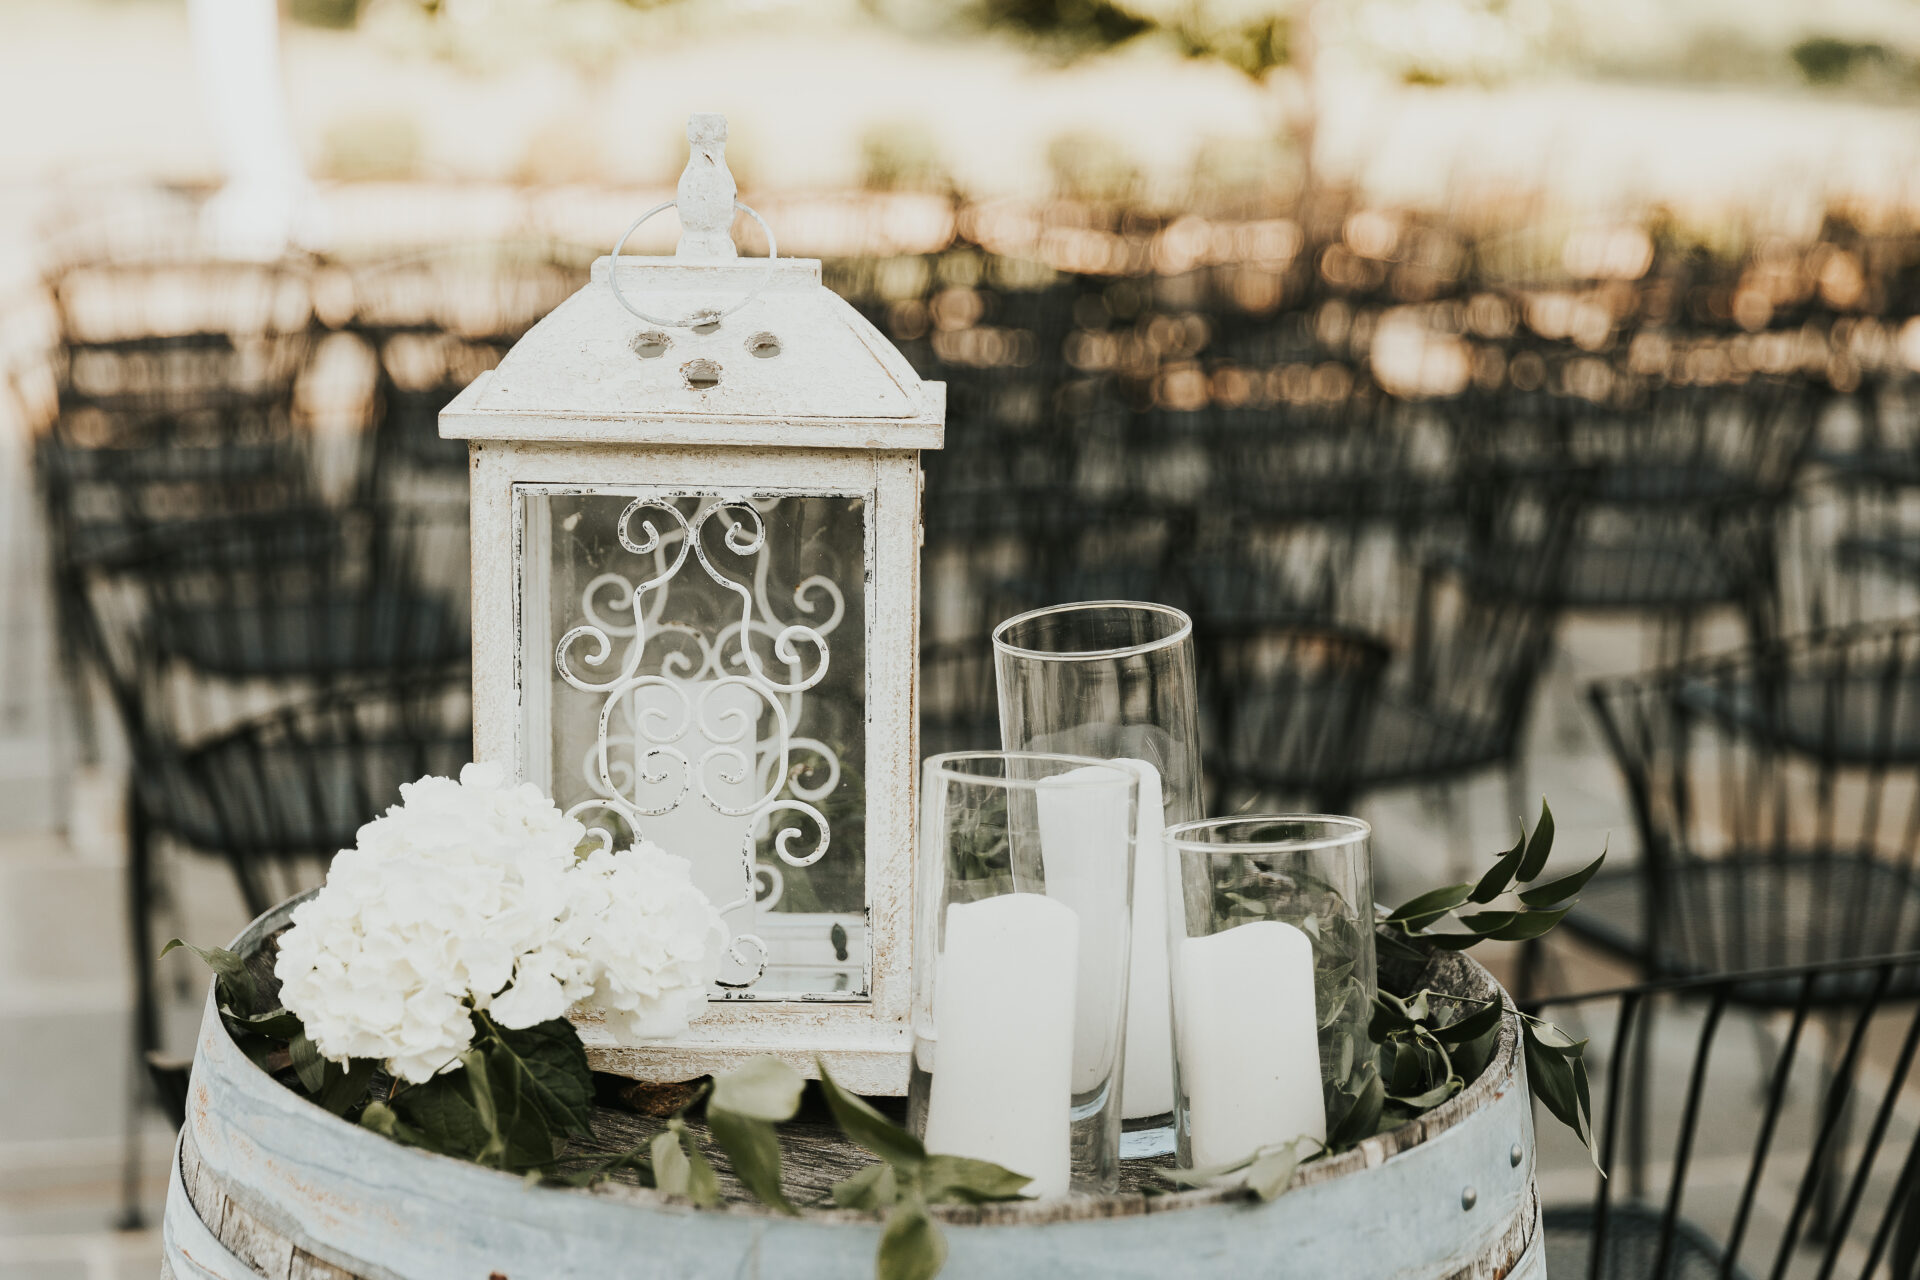
POLYGON ((1655 979, 1920 948, 1920 624, 1601 681, 1592 702, 1642 856, 1588 887, 1571 935, 1655 979))

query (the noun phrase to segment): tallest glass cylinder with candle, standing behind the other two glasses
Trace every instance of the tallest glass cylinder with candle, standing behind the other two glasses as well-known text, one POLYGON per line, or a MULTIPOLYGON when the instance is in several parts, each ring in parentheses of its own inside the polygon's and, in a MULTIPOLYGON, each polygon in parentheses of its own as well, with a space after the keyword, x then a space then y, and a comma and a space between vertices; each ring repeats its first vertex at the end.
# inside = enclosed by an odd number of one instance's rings
MULTIPOLYGON (((1008 618, 993 631, 1000 745, 1131 762, 1140 771, 1133 933, 1167 927, 1162 827, 1202 816, 1192 620, 1167 604, 1096 601, 1008 618)), ((1121 1155, 1173 1150, 1167 958, 1133 950, 1121 1155)))

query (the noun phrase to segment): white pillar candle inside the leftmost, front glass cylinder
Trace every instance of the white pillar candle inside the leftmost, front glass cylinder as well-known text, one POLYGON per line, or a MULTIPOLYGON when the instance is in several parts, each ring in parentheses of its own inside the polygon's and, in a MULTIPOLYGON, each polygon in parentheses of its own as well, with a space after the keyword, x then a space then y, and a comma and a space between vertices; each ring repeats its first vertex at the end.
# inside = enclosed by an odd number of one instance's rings
POLYGON ((1031 1196, 1068 1192, 1077 956, 1079 919, 1044 894, 947 908, 929 1151, 1023 1173, 1031 1196))

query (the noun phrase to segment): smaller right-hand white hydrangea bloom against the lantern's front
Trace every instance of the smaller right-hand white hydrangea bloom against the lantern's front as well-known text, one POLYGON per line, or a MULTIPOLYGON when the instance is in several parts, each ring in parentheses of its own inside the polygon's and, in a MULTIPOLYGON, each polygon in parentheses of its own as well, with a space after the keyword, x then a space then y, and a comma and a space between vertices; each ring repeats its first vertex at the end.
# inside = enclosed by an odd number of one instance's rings
POLYGON ((593 971, 588 1004, 620 1044, 676 1036, 707 1009, 726 921, 685 858, 651 841, 593 850, 578 867, 574 919, 593 971))

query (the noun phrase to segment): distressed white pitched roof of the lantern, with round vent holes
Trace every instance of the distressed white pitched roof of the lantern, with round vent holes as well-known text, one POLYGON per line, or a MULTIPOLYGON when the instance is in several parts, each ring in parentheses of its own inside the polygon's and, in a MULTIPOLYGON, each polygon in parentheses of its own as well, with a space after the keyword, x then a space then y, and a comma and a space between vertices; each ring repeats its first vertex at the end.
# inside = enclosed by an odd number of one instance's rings
POLYGON ((459 439, 939 449, 947 388, 922 382, 812 259, 611 257, 440 415, 459 439), (699 328, 657 317, 724 311, 699 328))

